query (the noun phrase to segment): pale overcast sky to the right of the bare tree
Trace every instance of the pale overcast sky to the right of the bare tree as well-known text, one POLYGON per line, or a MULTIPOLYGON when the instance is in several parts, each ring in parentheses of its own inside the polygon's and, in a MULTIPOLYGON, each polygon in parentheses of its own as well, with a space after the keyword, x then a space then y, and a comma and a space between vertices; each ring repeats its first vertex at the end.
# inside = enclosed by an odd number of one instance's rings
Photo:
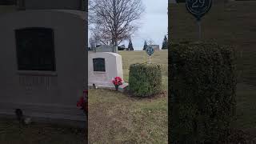
MULTIPOLYGON (((168 29, 168 0, 142 0, 146 10, 142 15, 140 29, 132 36, 134 50, 142 50, 144 41, 153 40, 162 47, 162 40, 168 29)), ((89 34, 90 38, 90 34, 89 34)), ((128 42, 125 42, 126 47, 128 42)))

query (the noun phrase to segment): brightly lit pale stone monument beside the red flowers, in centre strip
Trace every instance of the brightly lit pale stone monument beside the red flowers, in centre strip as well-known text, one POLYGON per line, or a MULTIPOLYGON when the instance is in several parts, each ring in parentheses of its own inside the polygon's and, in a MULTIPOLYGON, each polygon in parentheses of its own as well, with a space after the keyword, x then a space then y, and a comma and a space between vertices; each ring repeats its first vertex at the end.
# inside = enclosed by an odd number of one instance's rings
MULTIPOLYGON (((117 50, 113 46, 105 47, 106 49, 96 47, 96 50, 91 50, 88 53, 88 85, 114 89, 112 80, 115 77, 120 77, 123 80, 122 56, 116 53, 117 50)), ((128 86, 127 83, 123 83, 119 87, 120 90, 128 86)))

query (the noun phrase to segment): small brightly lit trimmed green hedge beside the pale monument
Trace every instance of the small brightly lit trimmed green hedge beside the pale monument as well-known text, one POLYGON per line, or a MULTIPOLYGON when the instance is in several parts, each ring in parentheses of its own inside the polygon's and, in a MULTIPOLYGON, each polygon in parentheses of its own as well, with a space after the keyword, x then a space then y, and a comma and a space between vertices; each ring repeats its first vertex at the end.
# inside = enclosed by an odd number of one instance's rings
POLYGON ((138 97, 159 94, 162 91, 161 66, 152 63, 130 65, 129 90, 138 97))

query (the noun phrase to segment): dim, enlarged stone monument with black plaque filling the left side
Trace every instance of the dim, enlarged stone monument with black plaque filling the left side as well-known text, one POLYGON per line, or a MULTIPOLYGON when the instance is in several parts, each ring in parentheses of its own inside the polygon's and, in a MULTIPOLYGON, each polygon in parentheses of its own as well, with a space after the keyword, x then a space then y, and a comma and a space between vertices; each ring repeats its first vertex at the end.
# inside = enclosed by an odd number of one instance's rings
POLYGON ((82 1, 26 0, 0 15, 0 116, 86 126, 76 104, 87 88, 82 1), (79 5, 79 6, 78 6, 79 5))

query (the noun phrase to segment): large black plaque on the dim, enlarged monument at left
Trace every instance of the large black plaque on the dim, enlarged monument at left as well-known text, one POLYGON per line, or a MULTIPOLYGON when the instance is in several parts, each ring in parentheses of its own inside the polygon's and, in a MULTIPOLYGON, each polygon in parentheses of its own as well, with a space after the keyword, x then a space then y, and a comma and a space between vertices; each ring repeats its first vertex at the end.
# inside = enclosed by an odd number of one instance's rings
POLYGON ((15 34, 18 70, 56 70, 52 29, 26 28, 15 34))

